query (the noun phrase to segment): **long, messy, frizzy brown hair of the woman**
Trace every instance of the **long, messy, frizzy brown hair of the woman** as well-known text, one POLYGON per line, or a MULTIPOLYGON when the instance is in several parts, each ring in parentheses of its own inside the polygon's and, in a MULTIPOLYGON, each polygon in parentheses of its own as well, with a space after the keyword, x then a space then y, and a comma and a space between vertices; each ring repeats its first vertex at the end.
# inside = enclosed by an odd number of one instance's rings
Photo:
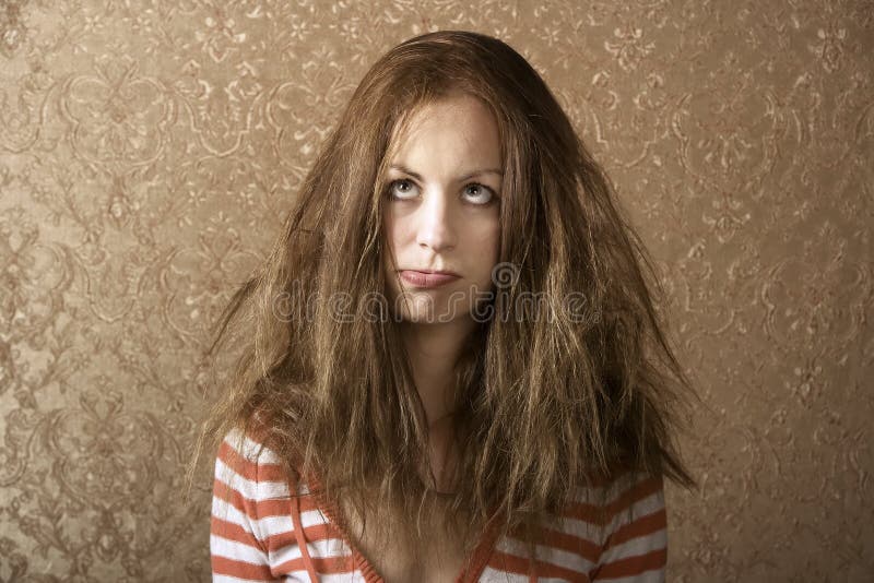
POLYGON ((256 431, 291 480, 315 472, 370 520, 386 508, 421 515, 435 487, 421 472, 425 414, 398 322, 373 316, 387 293, 394 139, 413 112, 457 93, 498 124, 509 277, 456 367, 460 472, 447 514, 472 546, 499 512, 533 552, 538 521, 583 486, 629 471, 696 485, 674 444, 694 391, 653 308, 651 259, 604 171, 534 69, 482 34, 411 38, 361 81, 269 258, 222 314, 211 350, 233 328, 247 342, 194 464, 232 429, 256 431), (553 308, 520 317, 531 298, 553 308), (554 309, 556 298, 572 309, 554 309))

